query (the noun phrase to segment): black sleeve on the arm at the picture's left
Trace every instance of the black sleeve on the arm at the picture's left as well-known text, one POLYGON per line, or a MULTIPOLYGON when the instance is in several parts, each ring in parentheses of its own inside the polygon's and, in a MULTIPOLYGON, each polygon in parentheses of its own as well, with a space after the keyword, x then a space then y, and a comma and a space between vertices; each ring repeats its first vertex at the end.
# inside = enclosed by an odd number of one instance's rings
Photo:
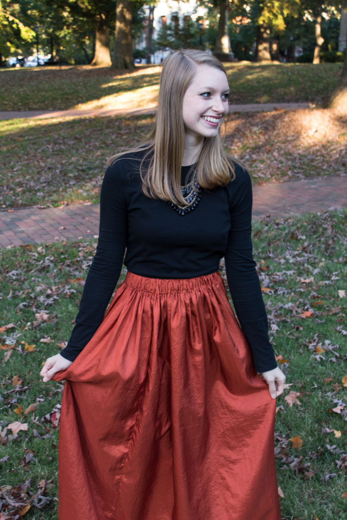
POLYGON ((126 197, 117 163, 107 168, 100 192, 99 239, 75 326, 61 355, 73 361, 99 327, 118 281, 126 246, 126 197))

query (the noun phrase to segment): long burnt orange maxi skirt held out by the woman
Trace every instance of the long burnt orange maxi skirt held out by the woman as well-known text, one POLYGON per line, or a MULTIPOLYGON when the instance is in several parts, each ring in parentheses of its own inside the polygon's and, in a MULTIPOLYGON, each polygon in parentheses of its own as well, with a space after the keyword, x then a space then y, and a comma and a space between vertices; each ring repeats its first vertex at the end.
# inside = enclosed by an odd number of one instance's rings
POLYGON ((59 520, 280 520, 275 399, 218 273, 127 273, 66 379, 59 520))

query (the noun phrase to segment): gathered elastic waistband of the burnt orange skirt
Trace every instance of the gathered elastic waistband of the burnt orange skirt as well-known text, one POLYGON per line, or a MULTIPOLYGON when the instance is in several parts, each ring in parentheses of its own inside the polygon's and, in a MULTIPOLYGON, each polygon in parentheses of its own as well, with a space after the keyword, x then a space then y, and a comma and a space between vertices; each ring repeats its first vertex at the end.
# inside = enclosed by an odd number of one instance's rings
POLYGON ((195 278, 148 278, 146 276, 135 275, 127 271, 125 284, 150 293, 173 293, 181 291, 194 291, 203 287, 215 287, 223 281, 218 271, 210 275, 197 276, 195 278))

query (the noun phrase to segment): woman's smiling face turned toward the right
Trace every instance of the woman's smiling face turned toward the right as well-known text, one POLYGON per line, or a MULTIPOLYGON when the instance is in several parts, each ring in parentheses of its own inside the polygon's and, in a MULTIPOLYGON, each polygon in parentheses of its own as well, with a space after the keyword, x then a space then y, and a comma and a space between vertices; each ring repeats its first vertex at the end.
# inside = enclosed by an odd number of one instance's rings
POLYGON ((198 65, 183 98, 186 139, 214 137, 229 110, 229 86, 223 71, 198 65))

